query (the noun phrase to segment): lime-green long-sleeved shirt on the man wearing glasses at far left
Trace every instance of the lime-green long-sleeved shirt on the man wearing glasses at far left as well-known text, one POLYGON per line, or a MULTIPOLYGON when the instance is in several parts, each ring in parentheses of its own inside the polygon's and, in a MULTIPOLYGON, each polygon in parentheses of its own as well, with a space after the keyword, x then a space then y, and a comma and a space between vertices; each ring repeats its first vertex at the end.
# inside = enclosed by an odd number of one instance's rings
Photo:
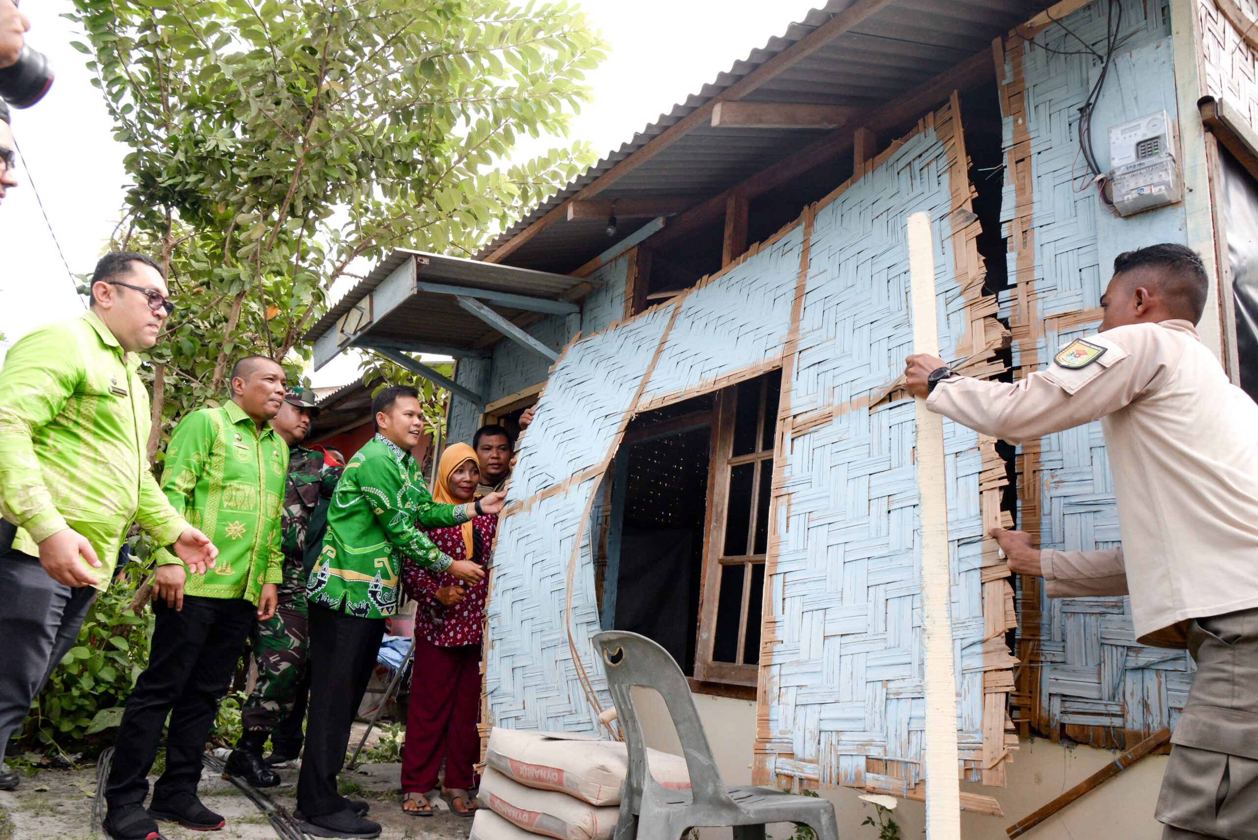
POLYGON ((19 526, 14 548, 65 528, 101 561, 87 568, 106 590, 132 522, 162 546, 187 522, 148 470, 148 392, 140 360, 93 312, 39 327, 10 350, 0 371, 0 514, 19 526))

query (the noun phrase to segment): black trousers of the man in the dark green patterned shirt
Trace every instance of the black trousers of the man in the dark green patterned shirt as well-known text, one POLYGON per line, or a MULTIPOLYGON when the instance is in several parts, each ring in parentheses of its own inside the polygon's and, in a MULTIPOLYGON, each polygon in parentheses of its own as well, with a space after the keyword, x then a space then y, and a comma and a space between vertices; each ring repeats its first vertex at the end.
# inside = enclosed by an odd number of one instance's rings
POLYGON ((347 807, 336 790, 336 776, 345 765, 350 727, 376 665, 385 620, 311 604, 309 634, 311 699, 297 807, 304 816, 327 816, 347 807))

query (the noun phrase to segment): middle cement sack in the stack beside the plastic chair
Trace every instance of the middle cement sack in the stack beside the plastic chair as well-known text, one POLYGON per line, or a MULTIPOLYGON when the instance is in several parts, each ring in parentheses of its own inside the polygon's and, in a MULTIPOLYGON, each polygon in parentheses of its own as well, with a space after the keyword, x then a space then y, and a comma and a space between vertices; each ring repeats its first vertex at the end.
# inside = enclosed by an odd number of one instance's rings
POLYGON ((620 812, 619 807, 594 807, 567 793, 525 787, 492 767, 481 776, 477 801, 525 831, 556 840, 611 840, 620 812))

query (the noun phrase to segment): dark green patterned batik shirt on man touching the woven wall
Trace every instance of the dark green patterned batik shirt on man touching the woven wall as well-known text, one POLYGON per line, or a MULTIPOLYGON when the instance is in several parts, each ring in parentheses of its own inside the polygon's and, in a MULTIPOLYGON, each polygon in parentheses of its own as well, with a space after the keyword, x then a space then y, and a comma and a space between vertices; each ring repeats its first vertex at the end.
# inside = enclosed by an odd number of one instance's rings
POLYGON ((323 552, 311 570, 306 596, 359 617, 387 617, 398 611, 404 557, 435 572, 450 566, 419 528, 464 522, 464 506, 433 502, 410 453, 376 435, 355 453, 336 485, 323 552))

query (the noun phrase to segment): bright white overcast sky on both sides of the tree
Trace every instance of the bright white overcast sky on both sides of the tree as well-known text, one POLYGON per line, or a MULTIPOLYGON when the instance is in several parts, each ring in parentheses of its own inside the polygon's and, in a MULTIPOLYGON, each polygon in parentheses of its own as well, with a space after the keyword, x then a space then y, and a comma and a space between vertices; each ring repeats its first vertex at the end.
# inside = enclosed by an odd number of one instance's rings
MULTIPOLYGON (((574 121, 571 137, 590 141, 603 153, 821 0, 580 0, 580 5, 611 52, 589 74, 594 102, 574 121)), ((69 45, 79 39, 74 25, 60 16, 70 9, 69 0, 23 4, 31 20, 28 43, 52 57, 57 82, 34 108, 13 112, 24 162, 18 172, 21 185, 0 204, 0 331, 9 342, 40 323, 83 311, 69 272, 92 269, 121 216, 127 148, 113 140, 99 92, 88 82, 86 57, 69 45)), ((313 381, 343 385, 355 377, 356 362, 342 358, 314 373, 313 381)))

